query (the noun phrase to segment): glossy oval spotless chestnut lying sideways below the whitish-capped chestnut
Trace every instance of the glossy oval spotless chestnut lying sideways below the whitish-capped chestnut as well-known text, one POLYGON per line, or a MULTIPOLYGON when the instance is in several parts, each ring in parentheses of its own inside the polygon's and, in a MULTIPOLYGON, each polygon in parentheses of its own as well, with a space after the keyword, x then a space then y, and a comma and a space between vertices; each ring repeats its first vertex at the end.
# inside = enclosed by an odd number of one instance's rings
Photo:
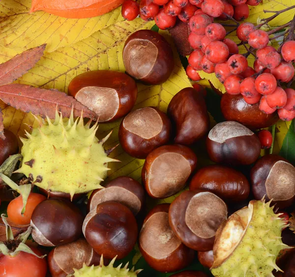
POLYGON ((247 178, 239 171, 223 165, 201 168, 192 178, 189 189, 209 190, 228 202, 246 200, 250 193, 247 178))

